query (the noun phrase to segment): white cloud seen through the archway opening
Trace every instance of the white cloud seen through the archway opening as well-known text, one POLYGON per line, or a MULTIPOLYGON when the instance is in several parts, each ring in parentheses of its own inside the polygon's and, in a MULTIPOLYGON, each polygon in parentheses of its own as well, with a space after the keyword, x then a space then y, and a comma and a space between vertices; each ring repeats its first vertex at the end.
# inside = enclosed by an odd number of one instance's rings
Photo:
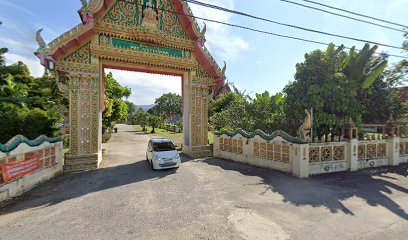
POLYGON ((181 77, 105 69, 105 73, 109 72, 122 86, 132 89, 129 101, 136 105, 153 104, 164 93, 181 95, 181 77))

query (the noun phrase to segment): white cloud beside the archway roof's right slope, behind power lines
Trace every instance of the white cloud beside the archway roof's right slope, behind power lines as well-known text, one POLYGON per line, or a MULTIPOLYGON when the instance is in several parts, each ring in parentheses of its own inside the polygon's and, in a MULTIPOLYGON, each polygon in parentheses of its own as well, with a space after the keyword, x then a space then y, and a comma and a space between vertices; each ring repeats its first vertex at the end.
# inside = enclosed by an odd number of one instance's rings
MULTIPOLYGON (((202 0, 202 2, 234 9, 234 0, 202 0)), ((197 17, 207 18, 220 22, 230 22, 232 14, 219 11, 216 9, 206 8, 195 4, 190 4, 190 7, 197 17)), ((198 20, 199 21, 199 20, 198 20)), ((203 24, 199 21, 199 24, 203 24)), ((206 46, 211 52, 219 53, 223 60, 233 60, 242 51, 249 48, 249 43, 244 39, 232 34, 231 28, 213 22, 206 22, 207 33, 206 46)))

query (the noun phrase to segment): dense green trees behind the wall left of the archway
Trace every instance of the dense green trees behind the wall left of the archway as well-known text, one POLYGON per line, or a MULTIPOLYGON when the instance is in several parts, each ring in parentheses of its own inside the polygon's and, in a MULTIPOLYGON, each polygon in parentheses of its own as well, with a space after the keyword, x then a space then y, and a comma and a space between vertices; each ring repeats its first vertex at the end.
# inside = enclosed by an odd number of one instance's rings
POLYGON ((62 96, 54 89, 55 78, 33 78, 22 62, 3 65, 0 73, 0 142, 17 134, 34 139, 58 135, 62 121, 62 96))

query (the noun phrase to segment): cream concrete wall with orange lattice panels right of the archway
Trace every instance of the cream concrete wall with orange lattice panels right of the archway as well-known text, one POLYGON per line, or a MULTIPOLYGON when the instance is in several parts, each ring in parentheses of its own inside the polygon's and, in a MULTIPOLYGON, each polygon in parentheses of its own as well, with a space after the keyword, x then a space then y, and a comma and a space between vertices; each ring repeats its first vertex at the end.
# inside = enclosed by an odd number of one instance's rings
POLYGON ((398 137, 302 144, 295 138, 276 134, 268 136, 240 131, 215 134, 214 157, 275 169, 299 178, 408 162, 408 139, 398 137))

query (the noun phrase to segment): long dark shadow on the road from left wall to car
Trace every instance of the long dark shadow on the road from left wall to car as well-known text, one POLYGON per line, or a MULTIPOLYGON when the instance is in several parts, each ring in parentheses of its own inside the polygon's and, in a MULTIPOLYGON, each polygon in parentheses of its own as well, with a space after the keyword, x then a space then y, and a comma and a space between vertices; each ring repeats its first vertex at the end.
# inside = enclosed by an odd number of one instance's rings
POLYGON ((177 169, 154 171, 143 160, 135 163, 100 168, 87 172, 67 173, 47 181, 9 201, 0 216, 36 207, 47 207, 87 194, 136 182, 165 178, 177 169))

